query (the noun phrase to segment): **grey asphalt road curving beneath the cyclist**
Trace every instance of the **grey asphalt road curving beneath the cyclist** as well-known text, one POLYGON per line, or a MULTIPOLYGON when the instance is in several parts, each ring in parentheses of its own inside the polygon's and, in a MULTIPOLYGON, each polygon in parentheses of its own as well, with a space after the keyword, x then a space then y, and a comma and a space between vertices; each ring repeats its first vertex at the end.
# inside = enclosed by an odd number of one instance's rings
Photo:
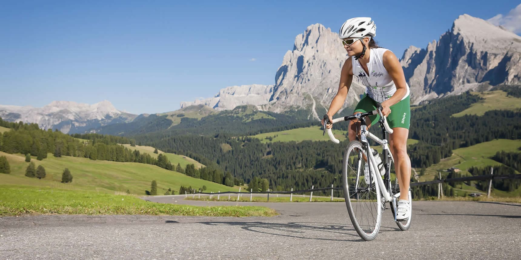
MULTIPOLYGON (((275 217, 28 216, 0 218, 0 259, 519 259, 521 204, 414 201, 400 231, 390 210, 376 240, 353 229, 343 202, 263 205, 275 217)), ((152 203, 152 202, 151 202, 152 203)))

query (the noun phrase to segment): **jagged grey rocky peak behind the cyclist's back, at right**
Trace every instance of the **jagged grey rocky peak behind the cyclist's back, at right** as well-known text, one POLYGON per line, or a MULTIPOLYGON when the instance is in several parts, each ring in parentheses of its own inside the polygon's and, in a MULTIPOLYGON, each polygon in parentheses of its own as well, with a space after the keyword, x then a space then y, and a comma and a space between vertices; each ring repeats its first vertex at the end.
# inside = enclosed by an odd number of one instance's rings
POLYGON ((521 36, 469 15, 427 48, 404 51, 401 64, 411 86, 411 102, 419 103, 466 90, 521 83, 521 36))

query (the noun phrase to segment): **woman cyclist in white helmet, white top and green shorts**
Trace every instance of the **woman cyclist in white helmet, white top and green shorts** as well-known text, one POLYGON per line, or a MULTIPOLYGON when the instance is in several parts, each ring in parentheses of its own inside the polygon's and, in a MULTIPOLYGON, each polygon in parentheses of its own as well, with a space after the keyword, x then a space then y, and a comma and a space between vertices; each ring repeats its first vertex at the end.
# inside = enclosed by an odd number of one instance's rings
MULTIPOLYGON (((394 131, 389 135, 389 149, 394 158, 394 168, 401 191, 396 219, 407 220, 411 215, 411 205, 408 202, 411 160, 407 155, 411 107, 410 90, 405 82, 402 66, 392 51, 379 47, 373 40, 376 35, 376 25, 371 18, 349 19, 342 24, 339 34, 344 49, 350 57, 342 67, 338 93, 331 101, 327 115, 331 119, 342 107, 351 87, 353 76, 366 87, 365 94, 356 105, 354 113, 373 111, 376 109, 377 103, 381 104, 382 114, 387 116, 389 126, 394 131)), ((366 124, 374 125, 379 118, 379 115, 369 116, 366 124)), ((356 139, 359 124, 359 122, 350 121, 350 140, 356 139)), ((322 125, 324 125, 324 119, 322 119, 322 125)), ((329 124, 326 127, 331 128, 332 125, 329 124)))

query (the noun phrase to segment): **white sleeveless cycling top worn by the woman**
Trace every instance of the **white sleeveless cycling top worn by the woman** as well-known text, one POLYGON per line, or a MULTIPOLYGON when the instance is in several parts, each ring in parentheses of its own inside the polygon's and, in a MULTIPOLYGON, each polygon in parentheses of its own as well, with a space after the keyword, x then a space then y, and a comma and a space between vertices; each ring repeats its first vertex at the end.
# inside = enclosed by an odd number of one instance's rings
MULTIPOLYGON (((396 92, 396 86, 392 81, 391 75, 383 67, 382 56, 386 51, 388 49, 384 48, 370 50, 369 62, 367 63, 369 75, 366 75, 358 60, 351 59, 353 61, 353 75, 356 76, 358 83, 366 87, 365 93, 367 96, 379 103, 391 98, 394 92, 396 92)), ((402 100, 410 93, 409 85, 407 83, 405 85, 407 86, 407 94, 403 96, 402 100)))

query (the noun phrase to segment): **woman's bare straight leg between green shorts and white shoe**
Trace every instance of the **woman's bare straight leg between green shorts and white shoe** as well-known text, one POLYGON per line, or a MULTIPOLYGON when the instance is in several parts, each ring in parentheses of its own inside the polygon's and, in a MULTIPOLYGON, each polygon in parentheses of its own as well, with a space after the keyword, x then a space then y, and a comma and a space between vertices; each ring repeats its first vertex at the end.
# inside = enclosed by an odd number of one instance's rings
POLYGON ((400 200, 408 200, 408 190, 411 181, 411 159, 407 154, 407 137, 409 129, 394 127, 389 135, 390 149, 394 158, 394 170, 400 186, 400 200))

